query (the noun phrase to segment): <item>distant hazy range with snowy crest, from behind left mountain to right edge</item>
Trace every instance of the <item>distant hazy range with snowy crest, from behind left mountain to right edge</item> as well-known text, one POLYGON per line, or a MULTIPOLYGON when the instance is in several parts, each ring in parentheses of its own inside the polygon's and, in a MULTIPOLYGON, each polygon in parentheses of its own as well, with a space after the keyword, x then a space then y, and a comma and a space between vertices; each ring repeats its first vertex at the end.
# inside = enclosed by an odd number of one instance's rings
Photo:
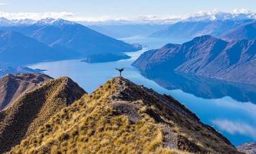
POLYGON ((114 38, 134 36, 192 39, 200 35, 221 38, 241 25, 255 21, 254 12, 196 12, 177 18, 142 16, 135 21, 81 22, 114 38))

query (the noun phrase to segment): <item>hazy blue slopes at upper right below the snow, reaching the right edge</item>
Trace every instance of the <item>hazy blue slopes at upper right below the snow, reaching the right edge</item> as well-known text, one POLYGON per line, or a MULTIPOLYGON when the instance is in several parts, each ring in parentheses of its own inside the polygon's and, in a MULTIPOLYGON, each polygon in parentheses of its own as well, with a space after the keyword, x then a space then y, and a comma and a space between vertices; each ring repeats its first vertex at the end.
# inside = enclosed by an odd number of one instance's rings
POLYGON ((201 35, 212 35, 227 40, 255 39, 255 20, 228 19, 177 22, 158 32, 153 32, 150 37, 192 39, 201 35), (239 37, 241 35, 242 38, 239 37))

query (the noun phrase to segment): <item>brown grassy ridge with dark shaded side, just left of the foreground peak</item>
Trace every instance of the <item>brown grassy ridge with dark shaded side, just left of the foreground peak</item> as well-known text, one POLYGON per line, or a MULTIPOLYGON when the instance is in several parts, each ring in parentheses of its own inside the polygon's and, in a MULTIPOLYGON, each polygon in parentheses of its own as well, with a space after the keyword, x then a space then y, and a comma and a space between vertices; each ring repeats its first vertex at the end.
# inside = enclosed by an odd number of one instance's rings
POLYGON ((51 80, 26 92, 0 112, 0 153, 8 151, 29 136, 62 108, 80 99, 86 92, 71 79, 51 80))

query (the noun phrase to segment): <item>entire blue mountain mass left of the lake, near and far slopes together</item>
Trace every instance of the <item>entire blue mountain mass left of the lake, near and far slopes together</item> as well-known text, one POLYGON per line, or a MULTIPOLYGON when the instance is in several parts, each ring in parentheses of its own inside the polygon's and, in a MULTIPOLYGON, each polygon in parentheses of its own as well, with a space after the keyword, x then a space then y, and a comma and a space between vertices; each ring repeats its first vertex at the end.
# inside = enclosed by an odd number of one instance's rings
POLYGON ((140 45, 127 44, 63 19, 46 18, 32 25, 11 22, 0 29, 0 62, 8 65, 141 49, 140 45))

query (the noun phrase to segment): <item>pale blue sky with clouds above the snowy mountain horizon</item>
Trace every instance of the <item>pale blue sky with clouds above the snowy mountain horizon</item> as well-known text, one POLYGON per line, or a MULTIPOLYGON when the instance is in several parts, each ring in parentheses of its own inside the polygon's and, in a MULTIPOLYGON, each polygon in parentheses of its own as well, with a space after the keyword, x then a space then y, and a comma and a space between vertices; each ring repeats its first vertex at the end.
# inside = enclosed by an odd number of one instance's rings
MULTIPOLYGON (((255 0, 0 0, 0 15, 76 18, 165 17, 199 11, 256 12, 255 0), (34 16, 33 16, 34 15, 34 16)), ((37 17, 38 18, 38 17, 37 17)))

